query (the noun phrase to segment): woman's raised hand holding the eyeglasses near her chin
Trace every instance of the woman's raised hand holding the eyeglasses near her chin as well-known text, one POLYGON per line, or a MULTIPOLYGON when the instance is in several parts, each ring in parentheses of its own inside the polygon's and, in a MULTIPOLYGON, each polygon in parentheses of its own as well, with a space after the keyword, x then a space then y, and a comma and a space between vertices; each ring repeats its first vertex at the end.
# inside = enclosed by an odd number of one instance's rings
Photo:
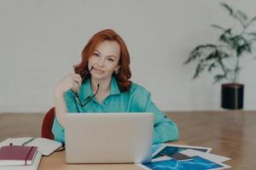
POLYGON ((79 93, 79 88, 82 83, 82 77, 79 74, 70 74, 64 77, 61 82, 55 86, 55 94, 64 94, 72 89, 74 93, 79 93))

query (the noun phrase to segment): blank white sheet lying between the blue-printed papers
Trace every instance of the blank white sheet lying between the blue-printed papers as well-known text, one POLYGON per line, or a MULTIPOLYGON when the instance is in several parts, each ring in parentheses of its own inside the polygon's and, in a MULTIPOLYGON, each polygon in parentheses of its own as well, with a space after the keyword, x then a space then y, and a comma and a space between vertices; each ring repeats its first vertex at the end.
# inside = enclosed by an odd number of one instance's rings
POLYGON ((205 152, 198 151, 198 150, 182 150, 182 151, 180 151, 180 153, 182 153, 186 156, 201 156, 207 160, 211 160, 214 162, 220 162, 220 163, 222 163, 224 161, 231 160, 230 157, 218 156, 215 154, 205 153, 205 152))

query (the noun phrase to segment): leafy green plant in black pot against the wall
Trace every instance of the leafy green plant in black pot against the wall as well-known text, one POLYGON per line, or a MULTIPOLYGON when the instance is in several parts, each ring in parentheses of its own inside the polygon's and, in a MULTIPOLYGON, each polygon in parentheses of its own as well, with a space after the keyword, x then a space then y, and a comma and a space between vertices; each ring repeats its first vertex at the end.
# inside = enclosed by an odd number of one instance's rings
POLYGON ((214 82, 227 82, 221 86, 221 106, 237 110, 243 107, 244 88, 237 77, 241 71, 241 58, 253 54, 256 32, 248 31, 248 27, 256 20, 256 16, 249 19, 241 10, 233 10, 226 3, 220 4, 233 20, 238 21, 239 27, 235 29, 211 25, 220 31, 218 41, 195 47, 184 64, 197 63, 193 79, 199 77, 202 71, 215 71, 214 82))

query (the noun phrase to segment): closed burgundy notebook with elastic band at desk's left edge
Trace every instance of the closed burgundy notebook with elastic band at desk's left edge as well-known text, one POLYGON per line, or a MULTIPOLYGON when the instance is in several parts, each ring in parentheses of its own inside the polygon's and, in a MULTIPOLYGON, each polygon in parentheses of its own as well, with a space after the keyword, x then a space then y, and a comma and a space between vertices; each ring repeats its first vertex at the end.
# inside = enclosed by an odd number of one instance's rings
POLYGON ((37 152, 37 146, 3 146, 0 148, 0 165, 30 165, 37 152))

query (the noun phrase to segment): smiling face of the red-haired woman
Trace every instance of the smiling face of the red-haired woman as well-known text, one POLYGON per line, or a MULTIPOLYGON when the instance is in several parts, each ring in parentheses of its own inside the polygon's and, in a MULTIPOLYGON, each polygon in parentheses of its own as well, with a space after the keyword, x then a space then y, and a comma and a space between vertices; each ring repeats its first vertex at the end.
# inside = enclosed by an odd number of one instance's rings
POLYGON ((89 70, 91 77, 96 79, 108 79, 112 77, 113 71, 119 70, 120 47, 115 41, 103 41, 89 58, 89 70))

